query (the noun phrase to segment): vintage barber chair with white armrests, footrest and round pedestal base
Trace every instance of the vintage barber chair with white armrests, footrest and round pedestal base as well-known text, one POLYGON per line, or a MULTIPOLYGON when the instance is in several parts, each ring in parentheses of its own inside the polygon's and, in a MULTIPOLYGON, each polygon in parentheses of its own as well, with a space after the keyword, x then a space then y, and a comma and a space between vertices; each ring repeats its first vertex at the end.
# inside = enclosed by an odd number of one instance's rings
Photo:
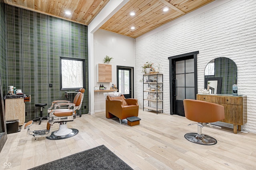
POLYGON ((28 134, 34 137, 46 137, 51 140, 70 138, 78 134, 78 130, 74 128, 68 128, 67 122, 73 121, 76 118, 76 110, 79 110, 82 106, 85 89, 79 89, 76 94, 73 103, 65 100, 53 101, 51 107, 48 109, 48 122, 45 130, 30 130, 30 126, 33 125, 33 121, 26 123, 24 128, 28 128, 28 134), (58 130, 52 132, 52 125, 54 123, 60 123, 58 130))

